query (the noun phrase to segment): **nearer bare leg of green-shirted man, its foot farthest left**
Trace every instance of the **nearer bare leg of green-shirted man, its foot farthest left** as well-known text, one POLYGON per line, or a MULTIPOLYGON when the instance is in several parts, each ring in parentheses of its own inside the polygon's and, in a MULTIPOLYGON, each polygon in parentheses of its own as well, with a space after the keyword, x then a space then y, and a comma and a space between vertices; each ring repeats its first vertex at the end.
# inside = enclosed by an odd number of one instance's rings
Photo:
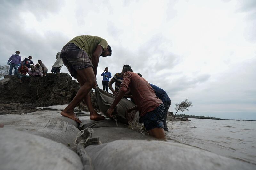
POLYGON ((90 90, 93 87, 95 87, 96 78, 92 67, 87 67, 76 71, 80 81, 82 80, 84 84, 77 91, 76 96, 73 98, 70 104, 68 104, 68 106, 61 112, 61 115, 81 123, 81 121, 77 118, 76 114, 74 113, 74 108, 85 98, 85 96, 90 92, 90 90))

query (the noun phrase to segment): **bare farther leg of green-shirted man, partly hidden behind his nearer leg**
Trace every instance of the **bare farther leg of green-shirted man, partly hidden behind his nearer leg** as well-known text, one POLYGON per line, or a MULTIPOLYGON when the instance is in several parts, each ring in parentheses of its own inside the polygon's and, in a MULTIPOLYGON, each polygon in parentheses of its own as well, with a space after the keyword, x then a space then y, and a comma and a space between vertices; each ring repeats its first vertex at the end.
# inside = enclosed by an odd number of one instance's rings
MULTIPOLYGON (((80 86, 84 85, 84 81, 83 79, 80 77, 80 75, 77 75, 77 80, 80 84, 80 86)), ((93 106, 92 106, 92 101, 91 101, 91 97, 90 97, 90 91, 89 93, 87 93, 87 95, 84 97, 84 101, 89 109, 89 112, 90 112, 90 119, 91 120, 105 120, 104 116, 101 116, 99 115, 94 109, 93 109, 93 106)))

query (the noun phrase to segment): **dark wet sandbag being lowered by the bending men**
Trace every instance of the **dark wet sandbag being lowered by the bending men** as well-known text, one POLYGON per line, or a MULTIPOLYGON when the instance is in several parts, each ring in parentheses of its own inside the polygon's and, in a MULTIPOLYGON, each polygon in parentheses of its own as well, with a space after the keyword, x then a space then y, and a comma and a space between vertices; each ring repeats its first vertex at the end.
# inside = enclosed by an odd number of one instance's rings
MULTIPOLYGON (((115 96, 113 94, 110 94, 102 89, 100 89, 99 87, 95 88, 95 97, 96 97, 96 101, 97 104, 101 110, 101 112, 109 117, 107 113, 107 110, 110 108, 110 106, 112 105, 115 96)), ((113 112, 113 115, 116 116, 116 120, 128 124, 128 120, 126 118, 125 112, 127 109, 130 109, 131 107, 135 106, 135 104, 130 101, 127 100, 125 98, 122 98, 120 100, 120 102, 117 104, 115 111, 113 112)), ((113 117, 109 117, 111 119, 113 119, 113 117)), ((136 119, 134 120, 135 122, 139 121, 139 116, 136 116, 136 119)))

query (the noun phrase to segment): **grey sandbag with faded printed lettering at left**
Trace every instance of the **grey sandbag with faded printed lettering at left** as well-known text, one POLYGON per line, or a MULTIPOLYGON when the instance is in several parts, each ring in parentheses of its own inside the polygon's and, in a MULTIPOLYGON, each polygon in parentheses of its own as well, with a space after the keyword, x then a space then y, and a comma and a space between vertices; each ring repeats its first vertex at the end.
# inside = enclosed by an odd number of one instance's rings
POLYGON ((53 141, 74 147, 79 130, 74 125, 60 120, 42 120, 36 115, 0 115, 0 124, 6 128, 26 131, 53 141))

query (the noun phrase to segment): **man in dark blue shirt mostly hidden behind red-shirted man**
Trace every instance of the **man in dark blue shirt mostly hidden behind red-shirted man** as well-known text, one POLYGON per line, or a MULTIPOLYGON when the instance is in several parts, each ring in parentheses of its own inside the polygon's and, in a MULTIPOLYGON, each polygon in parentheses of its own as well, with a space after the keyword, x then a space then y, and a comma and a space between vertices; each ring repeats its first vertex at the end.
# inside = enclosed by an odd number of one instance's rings
MULTIPOLYGON (((138 75, 140 77, 142 77, 142 75, 140 73, 138 73, 138 75)), ((153 85, 153 84, 150 84, 150 86, 155 91, 156 96, 160 100, 162 100, 162 102, 164 104, 164 109, 165 109, 165 114, 164 114, 164 130, 168 132, 169 130, 168 130, 167 125, 166 125, 166 119, 167 119, 168 110, 169 110, 169 108, 171 106, 171 99, 169 98, 167 93, 163 89, 161 89, 160 87, 157 87, 156 85, 153 85)))

